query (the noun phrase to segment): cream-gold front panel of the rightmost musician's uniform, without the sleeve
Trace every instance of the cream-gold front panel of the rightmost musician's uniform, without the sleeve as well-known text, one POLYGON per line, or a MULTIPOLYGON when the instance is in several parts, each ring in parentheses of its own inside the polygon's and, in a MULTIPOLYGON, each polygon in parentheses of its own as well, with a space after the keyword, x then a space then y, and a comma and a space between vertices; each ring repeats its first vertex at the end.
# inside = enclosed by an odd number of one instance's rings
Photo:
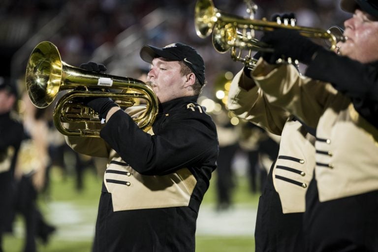
POLYGON ((321 202, 378 189, 378 130, 359 116, 347 97, 337 99, 340 107, 327 109, 317 130, 321 138, 332 139, 315 144, 330 153, 316 154, 317 162, 327 164, 315 169, 321 202))

